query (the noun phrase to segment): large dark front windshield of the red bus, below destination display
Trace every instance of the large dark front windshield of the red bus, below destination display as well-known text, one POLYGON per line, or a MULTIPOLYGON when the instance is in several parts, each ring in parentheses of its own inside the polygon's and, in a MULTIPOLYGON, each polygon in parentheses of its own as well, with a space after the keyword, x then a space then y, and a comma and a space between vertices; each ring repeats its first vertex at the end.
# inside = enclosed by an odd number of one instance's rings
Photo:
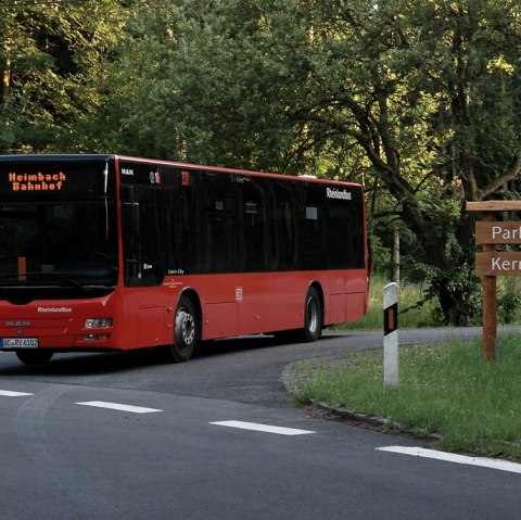
POLYGON ((3 203, 0 243, 3 300, 98 296, 116 284, 116 211, 106 199, 3 203))

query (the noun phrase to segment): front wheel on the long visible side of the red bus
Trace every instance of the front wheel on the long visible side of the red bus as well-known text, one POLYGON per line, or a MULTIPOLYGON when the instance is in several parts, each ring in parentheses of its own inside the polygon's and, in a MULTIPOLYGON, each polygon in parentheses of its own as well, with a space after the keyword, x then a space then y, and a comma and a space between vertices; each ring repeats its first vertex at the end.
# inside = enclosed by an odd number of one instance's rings
POLYGON ((198 351, 201 338, 199 317, 192 301, 179 299, 174 318, 174 343, 166 347, 166 358, 170 363, 188 362, 198 351))

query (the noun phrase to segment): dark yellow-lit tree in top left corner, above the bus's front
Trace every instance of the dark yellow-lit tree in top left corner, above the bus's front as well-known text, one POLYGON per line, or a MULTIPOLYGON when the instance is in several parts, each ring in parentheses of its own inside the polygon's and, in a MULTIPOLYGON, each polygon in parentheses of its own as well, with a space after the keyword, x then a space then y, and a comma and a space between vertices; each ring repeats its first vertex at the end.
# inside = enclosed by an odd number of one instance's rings
POLYGON ((115 45, 117 0, 0 4, 0 150, 81 149, 82 114, 96 106, 92 78, 115 45))

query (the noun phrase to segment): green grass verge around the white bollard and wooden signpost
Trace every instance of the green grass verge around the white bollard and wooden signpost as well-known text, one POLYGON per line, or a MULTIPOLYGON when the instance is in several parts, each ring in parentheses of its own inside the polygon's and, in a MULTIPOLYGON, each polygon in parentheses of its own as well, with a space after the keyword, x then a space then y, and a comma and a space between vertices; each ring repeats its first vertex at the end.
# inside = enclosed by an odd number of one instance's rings
POLYGON ((300 403, 326 402, 440 435, 436 447, 521 458, 521 338, 505 335, 495 363, 481 341, 403 347, 399 386, 383 385, 382 351, 348 353, 343 364, 302 364, 300 403))

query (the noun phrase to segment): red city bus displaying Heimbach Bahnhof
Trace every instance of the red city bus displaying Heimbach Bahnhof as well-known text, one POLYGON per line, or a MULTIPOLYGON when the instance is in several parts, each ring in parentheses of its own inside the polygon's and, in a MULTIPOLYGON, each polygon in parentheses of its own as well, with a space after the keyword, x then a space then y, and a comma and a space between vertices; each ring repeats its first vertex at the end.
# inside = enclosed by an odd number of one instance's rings
POLYGON ((160 347, 321 329, 367 309, 356 183, 106 155, 0 156, 0 350, 160 347))

